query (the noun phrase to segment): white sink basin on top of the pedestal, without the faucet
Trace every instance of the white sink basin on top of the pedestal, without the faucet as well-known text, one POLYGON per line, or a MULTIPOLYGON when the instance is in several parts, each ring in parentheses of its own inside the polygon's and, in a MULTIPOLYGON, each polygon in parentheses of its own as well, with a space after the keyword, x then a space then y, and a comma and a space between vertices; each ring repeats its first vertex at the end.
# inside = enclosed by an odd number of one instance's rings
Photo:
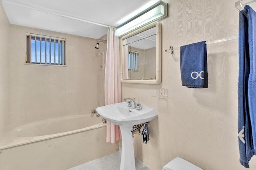
POLYGON ((127 106, 127 102, 122 102, 98 107, 96 111, 108 121, 120 126, 145 123, 157 116, 155 109, 152 107, 142 105, 142 109, 137 110, 127 106))

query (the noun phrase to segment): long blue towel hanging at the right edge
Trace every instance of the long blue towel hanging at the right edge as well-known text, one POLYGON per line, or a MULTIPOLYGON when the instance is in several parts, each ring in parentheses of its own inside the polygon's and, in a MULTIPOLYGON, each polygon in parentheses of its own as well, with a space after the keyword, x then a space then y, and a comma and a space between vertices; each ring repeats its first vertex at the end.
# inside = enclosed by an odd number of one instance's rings
POLYGON ((245 168, 249 168, 256 150, 255 20, 256 13, 250 6, 239 13, 238 145, 240 163, 245 168))

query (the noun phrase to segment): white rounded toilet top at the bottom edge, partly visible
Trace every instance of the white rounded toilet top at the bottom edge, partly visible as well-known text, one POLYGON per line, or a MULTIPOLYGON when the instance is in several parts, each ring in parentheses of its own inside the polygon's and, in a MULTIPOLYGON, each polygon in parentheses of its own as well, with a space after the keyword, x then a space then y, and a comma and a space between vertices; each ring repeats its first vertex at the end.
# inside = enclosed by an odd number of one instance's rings
POLYGON ((166 164, 163 170, 203 170, 198 166, 191 164, 190 162, 182 158, 174 158, 168 164, 166 164))

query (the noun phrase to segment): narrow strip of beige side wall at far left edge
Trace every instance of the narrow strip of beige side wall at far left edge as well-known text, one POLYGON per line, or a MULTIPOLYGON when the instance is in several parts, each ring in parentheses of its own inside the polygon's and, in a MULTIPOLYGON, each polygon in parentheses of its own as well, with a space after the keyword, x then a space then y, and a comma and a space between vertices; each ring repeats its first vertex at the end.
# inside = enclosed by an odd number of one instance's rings
POLYGON ((0 139, 9 113, 9 29, 10 23, 0 3, 0 139))

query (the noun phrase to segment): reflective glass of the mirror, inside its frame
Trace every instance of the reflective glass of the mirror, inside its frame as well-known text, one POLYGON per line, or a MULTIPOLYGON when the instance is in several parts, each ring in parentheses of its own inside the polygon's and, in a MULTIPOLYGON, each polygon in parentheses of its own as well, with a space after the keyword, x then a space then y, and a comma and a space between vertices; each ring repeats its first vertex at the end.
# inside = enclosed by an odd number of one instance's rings
POLYGON ((156 79, 156 27, 123 40, 123 79, 156 79))

